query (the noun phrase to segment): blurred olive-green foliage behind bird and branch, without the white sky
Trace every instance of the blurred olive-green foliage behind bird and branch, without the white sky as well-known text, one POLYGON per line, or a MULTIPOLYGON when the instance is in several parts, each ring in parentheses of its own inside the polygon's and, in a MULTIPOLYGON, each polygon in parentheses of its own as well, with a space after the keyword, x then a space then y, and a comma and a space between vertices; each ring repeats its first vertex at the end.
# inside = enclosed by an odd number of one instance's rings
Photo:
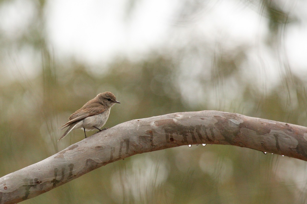
MULTIPOLYGON (((0 8, 11 2, 1 1, 0 8)), ((184 47, 152 50, 142 60, 117 57, 96 67, 73 57, 59 60, 46 40, 46 2, 29 2, 33 17, 24 30, 16 36, 0 30, 0 176, 83 139, 83 131, 76 130, 56 142, 63 133, 58 127, 103 91, 113 92, 121 102, 111 110, 106 124, 110 127, 206 109, 306 125, 305 73, 295 76, 284 64, 274 85, 270 79, 255 83, 253 73, 246 73, 247 45, 226 49, 221 41, 212 48, 192 36, 184 47), (30 55, 37 71, 27 73, 14 52, 30 55), (13 61, 11 72, 7 58, 13 61)), ((130 2, 127 16, 139 1, 130 2)), ((260 15, 270 22, 268 39, 279 39, 282 28, 295 21, 277 2, 258 2, 260 15)), ((206 4, 182 1, 177 23, 190 23, 206 4)), ((276 43, 268 43, 270 49, 276 49, 276 43)), ((266 72, 261 65, 259 69, 266 72)), ((193 145, 117 161, 23 203, 305 203, 305 172, 306 163, 292 158, 240 147, 193 145)))

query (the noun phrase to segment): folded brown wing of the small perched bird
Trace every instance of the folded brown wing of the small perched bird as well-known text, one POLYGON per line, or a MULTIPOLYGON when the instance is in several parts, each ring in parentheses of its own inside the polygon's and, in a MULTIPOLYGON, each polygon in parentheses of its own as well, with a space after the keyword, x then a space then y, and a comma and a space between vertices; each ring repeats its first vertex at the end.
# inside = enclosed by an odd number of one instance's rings
MULTIPOLYGON (((87 104, 85 104, 84 106, 86 105, 87 104)), ((77 110, 75 113, 72 113, 72 115, 68 118, 69 121, 65 123, 64 125, 62 125, 61 127, 64 126, 64 128, 66 128, 67 126, 69 126, 70 124, 76 121, 81 121, 86 117, 97 115, 107 109, 106 106, 102 105, 101 103, 92 103, 87 108, 84 108, 84 106, 80 108, 79 110, 77 110)))

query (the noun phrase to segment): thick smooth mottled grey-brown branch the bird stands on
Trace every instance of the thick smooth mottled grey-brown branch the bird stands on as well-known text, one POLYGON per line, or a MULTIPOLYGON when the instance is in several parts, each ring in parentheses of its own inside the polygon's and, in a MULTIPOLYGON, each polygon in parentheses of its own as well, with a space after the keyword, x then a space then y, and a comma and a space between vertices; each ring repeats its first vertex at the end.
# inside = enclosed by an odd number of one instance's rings
POLYGON ((188 144, 224 144, 307 161, 307 128, 204 110, 128 121, 0 178, 0 203, 17 203, 134 154, 188 144))

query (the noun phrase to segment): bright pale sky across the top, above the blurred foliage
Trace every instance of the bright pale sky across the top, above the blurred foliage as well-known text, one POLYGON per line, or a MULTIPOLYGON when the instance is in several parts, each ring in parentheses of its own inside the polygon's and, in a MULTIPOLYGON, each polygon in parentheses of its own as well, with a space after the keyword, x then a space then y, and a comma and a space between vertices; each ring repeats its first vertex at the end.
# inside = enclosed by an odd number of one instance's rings
MULTIPOLYGON (((302 72, 307 73, 307 1, 276 0, 281 8, 294 13, 298 20, 286 27, 281 38, 280 50, 283 49, 283 55, 274 53, 266 45, 268 20, 265 13, 259 15, 261 8, 258 4, 252 5, 243 0, 211 0, 203 4, 199 1, 199 10, 192 15, 192 19, 177 22, 180 0, 133 1, 135 5, 130 14, 126 15, 129 2, 49 1, 45 9, 46 34, 55 59, 73 56, 88 65, 101 65, 112 61, 116 56, 137 61, 153 50, 172 50, 193 43, 193 39, 201 39, 212 50, 219 42, 223 43, 225 50, 238 45, 251 47, 250 53, 247 53, 247 66, 257 72, 255 74, 263 74, 261 70, 257 71, 260 69, 260 58, 266 69, 264 74, 270 79, 280 72, 278 69, 281 68, 276 60, 278 57, 290 63, 292 72, 299 75, 302 72)), ((20 37, 35 16, 34 8, 35 4, 30 0, 2 3, 2 35, 12 42, 20 37)), ((37 56, 35 50, 29 46, 20 50, 14 50, 13 46, 7 53, 8 57, 0 63, 7 68, 8 73, 18 66, 28 74, 41 69, 41 62, 36 60, 40 54, 37 56)), ((212 56, 207 57, 210 59, 212 56)), ((186 60, 186 65, 183 66, 191 69, 188 63, 189 60, 186 60)), ((193 69, 197 73, 197 66, 193 69)))

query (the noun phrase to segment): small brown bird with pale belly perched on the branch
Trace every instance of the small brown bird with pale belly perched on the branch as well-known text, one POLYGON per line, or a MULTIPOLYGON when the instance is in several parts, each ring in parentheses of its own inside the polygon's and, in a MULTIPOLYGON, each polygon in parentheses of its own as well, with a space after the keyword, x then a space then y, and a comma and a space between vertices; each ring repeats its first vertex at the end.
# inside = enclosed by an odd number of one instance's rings
POLYGON ((73 129, 77 128, 84 129, 85 138, 87 138, 85 131, 97 129, 100 132, 107 129, 103 128, 101 130, 100 128, 106 124, 110 114, 110 109, 115 103, 120 102, 116 100, 115 95, 111 92, 107 91, 98 94, 95 98, 84 104, 82 108, 77 110, 75 113, 72 113, 72 115, 68 118, 69 121, 61 126, 64 126, 64 128, 69 128, 62 135, 62 137, 60 137, 60 139, 65 137, 73 129))

